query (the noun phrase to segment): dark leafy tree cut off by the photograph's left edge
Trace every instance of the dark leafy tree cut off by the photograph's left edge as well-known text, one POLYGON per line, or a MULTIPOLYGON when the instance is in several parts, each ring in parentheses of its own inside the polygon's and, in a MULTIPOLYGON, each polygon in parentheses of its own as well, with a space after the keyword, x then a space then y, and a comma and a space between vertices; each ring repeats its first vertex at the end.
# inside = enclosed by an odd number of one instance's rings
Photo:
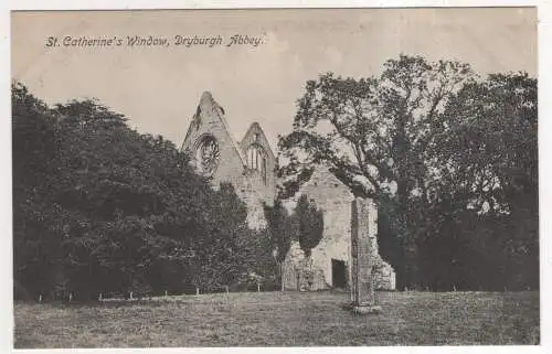
POLYGON ((12 83, 13 278, 29 294, 55 279, 60 210, 45 202, 56 155, 55 117, 20 83, 12 83), (45 223, 52 221, 52 223, 45 223))

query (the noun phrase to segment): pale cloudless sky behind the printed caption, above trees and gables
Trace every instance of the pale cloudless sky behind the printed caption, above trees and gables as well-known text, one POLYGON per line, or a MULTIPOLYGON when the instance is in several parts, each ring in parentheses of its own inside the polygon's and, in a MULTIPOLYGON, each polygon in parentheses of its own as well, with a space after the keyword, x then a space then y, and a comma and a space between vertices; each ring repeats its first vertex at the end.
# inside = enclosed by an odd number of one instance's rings
POLYGON ((11 74, 53 105, 96 97, 142 133, 180 146, 204 90, 241 140, 258 121, 273 149, 291 130, 296 100, 319 74, 378 75, 400 54, 469 63, 485 76, 537 76, 537 11, 479 9, 134 10, 13 12, 11 74), (168 39, 127 46, 126 36, 168 39), (176 36, 222 45, 174 45, 176 36), (261 39, 231 45, 233 35, 261 39), (49 37, 59 46, 46 46, 49 37), (65 46, 63 39, 120 39, 120 46, 65 46))

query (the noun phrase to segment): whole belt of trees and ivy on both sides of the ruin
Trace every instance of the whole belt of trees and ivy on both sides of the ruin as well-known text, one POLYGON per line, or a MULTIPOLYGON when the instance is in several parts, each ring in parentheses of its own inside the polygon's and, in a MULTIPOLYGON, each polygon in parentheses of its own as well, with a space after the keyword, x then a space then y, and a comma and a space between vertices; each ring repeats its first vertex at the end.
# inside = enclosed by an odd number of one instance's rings
MULTIPOLYGON (((47 107, 15 83, 12 124, 15 297, 277 287, 291 238, 306 256, 319 242, 306 200, 311 217, 276 201, 251 230, 231 185, 95 100, 47 107)), ((280 197, 323 164, 374 199, 399 289, 539 288, 535 78, 402 55, 378 76, 307 82, 293 127, 280 197)))

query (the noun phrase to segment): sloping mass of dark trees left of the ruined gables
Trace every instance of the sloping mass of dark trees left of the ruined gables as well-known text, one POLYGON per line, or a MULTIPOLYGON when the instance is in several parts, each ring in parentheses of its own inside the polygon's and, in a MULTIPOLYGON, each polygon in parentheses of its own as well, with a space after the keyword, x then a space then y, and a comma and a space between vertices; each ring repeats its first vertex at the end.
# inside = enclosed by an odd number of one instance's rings
POLYGON ((15 298, 182 293, 275 279, 265 232, 162 137, 96 100, 51 108, 12 84, 15 298))

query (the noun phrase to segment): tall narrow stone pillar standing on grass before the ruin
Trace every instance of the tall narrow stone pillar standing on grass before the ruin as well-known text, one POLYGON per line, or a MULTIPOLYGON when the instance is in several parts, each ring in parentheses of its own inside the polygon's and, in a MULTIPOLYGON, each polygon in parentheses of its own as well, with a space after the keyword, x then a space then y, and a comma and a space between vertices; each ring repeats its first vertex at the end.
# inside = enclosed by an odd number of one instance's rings
POLYGON ((372 269, 378 259, 378 211, 372 200, 357 197, 351 205, 351 292, 353 311, 381 311, 375 304, 372 269))

